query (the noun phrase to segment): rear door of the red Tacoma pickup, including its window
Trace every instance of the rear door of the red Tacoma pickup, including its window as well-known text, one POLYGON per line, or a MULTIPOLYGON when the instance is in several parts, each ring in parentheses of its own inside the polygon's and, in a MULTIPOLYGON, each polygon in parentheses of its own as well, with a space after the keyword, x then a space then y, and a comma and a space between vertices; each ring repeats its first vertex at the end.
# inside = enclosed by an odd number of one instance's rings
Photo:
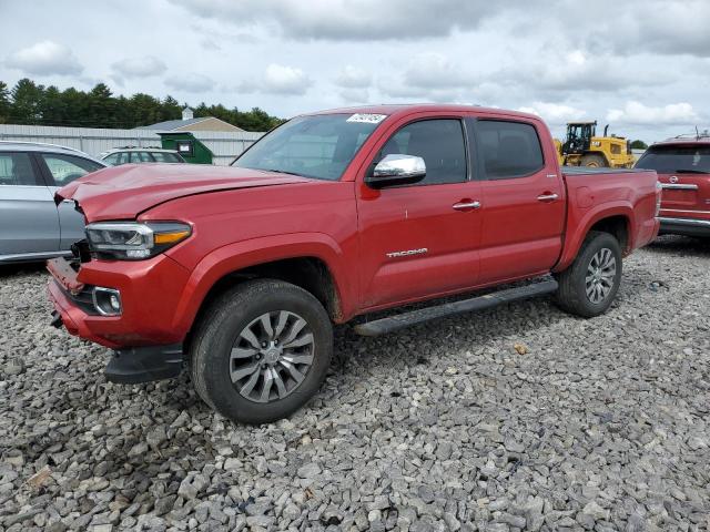
POLYGON ((547 131, 524 119, 470 122, 483 178, 481 284, 550 269, 562 248, 566 198, 544 154, 547 131))

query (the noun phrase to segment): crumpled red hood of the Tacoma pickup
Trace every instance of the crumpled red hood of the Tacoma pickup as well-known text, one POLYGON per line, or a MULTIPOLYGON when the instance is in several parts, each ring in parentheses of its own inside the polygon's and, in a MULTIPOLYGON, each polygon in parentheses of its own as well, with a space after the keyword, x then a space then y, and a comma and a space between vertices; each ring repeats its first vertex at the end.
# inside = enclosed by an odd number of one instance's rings
POLYGON ((94 172, 60 188, 88 222, 134 219, 161 203, 209 192, 286 185, 312 180, 261 170, 197 164, 125 164, 94 172))

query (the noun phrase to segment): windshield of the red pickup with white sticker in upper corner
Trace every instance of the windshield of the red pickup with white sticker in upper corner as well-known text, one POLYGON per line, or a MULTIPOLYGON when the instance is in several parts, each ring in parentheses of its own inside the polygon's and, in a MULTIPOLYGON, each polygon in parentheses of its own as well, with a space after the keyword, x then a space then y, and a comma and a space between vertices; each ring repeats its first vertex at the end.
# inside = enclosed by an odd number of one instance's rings
POLYGON ((298 116, 261 139, 232 166, 337 181, 382 114, 298 116))

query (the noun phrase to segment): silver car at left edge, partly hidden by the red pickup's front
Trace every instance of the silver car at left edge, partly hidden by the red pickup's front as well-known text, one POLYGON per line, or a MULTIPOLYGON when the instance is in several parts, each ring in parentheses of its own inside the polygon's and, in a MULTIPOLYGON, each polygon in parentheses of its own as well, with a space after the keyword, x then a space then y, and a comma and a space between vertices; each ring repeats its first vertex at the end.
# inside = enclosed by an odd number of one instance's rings
POLYGON ((105 166, 69 147, 0 142, 0 264, 70 255, 84 219, 54 192, 105 166))

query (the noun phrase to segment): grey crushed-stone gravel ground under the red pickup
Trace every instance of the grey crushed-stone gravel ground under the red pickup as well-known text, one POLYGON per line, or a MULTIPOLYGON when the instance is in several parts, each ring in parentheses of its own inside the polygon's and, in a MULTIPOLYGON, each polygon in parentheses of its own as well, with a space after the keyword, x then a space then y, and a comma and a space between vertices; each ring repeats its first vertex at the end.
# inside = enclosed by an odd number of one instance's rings
POLYGON ((0 273, 0 530, 708 530, 710 245, 626 262, 596 319, 547 299, 381 338, 292 419, 235 426, 185 378, 115 386, 0 273))

